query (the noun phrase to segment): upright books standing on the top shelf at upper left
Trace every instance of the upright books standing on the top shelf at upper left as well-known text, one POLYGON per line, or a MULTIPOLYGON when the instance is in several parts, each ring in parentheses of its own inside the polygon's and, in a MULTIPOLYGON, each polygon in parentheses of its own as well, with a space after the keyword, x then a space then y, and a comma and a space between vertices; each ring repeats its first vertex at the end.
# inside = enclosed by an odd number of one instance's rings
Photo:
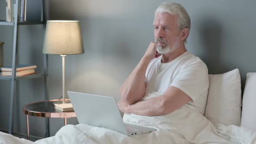
MULTIPOLYGON (((14 22, 14 13, 17 0, 6 0, 6 21, 14 22)), ((18 6, 18 21, 41 21, 42 20, 42 0, 21 0, 18 6)))

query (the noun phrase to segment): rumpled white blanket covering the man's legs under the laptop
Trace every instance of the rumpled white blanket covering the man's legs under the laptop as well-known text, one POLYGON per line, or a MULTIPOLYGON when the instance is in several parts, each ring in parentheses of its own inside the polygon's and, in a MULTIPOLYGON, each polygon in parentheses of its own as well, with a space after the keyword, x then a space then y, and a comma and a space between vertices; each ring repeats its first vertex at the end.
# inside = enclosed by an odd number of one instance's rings
MULTIPOLYGON (((190 105, 156 117, 125 114, 123 120, 157 129, 126 136, 85 124, 66 125, 36 144, 256 144, 256 132, 234 125, 213 124, 190 105)), ((0 134, 0 139, 1 139, 0 134)), ((0 144, 1 141, 0 141, 0 144)), ((5 144, 5 143, 3 143, 5 144)), ((7 144, 7 143, 6 143, 7 144)), ((8 143, 9 144, 9 143, 8 143)))

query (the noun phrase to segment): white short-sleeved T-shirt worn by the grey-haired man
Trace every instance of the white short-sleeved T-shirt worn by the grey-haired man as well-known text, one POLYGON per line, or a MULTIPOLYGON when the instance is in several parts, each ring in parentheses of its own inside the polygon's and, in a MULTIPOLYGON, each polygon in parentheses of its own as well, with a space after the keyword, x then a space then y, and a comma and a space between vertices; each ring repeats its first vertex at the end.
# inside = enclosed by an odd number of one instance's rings
POLYGON ((188 102, 204 115, 209 78, 205 63, 190 52, 184 52, 171 62, 161 63, 161 56, 152 59, 145 74, 146 90, 142 100, 163 95, 169 86, 185 92, 188 102))

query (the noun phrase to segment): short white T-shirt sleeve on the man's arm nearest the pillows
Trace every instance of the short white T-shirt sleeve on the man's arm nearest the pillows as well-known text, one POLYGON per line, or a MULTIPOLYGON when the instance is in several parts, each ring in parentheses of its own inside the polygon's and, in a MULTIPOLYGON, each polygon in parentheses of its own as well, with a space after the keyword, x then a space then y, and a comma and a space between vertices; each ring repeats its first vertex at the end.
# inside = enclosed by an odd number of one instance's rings
POLYGON ((209 88, 208 69, 200 59, 185 65, 171 85, 186 93, 193 102, 209 88))

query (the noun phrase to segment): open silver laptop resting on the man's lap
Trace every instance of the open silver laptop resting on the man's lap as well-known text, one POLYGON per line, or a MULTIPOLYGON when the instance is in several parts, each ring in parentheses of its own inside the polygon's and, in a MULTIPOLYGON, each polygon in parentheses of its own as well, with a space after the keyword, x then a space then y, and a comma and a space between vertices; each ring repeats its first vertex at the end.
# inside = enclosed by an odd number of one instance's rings
POLYGON ((68 91, 79 124, 107 128, 131 136, 154 131, 135 124, 124 123, 115 98, 68 91))

